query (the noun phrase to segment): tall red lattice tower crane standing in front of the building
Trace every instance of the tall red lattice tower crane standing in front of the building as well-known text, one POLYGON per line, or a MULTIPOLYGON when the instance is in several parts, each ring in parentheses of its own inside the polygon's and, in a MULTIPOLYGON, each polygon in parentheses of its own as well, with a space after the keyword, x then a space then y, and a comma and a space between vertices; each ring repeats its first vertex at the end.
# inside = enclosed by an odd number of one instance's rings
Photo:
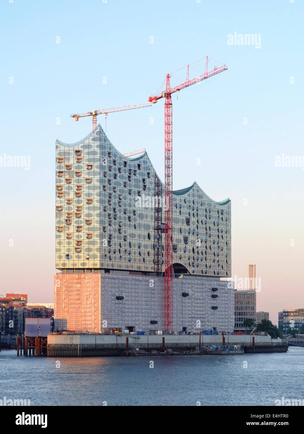
MULTIPOLYGON (((201 59, 202 60, 202 59, 201 59)), ((197 61, 199 62, 199 60, 197 61)), ((187 65, 186 81, 173 88, 170 86, 170 74, 166 76, 166 90, 151 95, 149 102, 155 103, 161 98, 165 98, 165 327, 169 333, 173 331, 173 262, 172 262, 172 100, 171 95, 181 89, 189 87, 202 80, 219 74, 228 69, 225 64, 219 68, 214 67, 208 72, 208 56, 206 57, 205 72, 189 80, 189 66, 187 65)), ((196 63, 196 62, 195 62, 196 63)), ((181 68, 182 69, 182 68, 181 68)))

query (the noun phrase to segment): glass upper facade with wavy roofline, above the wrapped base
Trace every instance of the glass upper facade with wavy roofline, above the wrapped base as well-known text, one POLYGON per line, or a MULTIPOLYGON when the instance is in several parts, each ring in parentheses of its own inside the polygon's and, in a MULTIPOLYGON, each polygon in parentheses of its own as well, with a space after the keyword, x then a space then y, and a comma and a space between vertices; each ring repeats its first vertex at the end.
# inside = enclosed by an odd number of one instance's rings
MULTIPOLYGON (((126 158, 100 125, 77 143, 56 141, 56 268, 67 273, 154 273, 155 170, 147 153, 126 158)), ((173 191, 175 273, 231 276, 231 201, 193 183, 173 191)))

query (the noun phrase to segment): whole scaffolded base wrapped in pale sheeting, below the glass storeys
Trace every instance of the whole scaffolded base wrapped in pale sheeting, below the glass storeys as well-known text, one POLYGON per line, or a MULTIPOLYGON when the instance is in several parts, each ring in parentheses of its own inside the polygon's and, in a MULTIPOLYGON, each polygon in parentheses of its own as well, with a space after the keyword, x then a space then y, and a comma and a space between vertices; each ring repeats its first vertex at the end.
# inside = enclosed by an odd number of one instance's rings
MULTIPOLYGON (((57 331, 165 329, 163 277, 58 273, 54 282, 57 331)), ((213 328, 233 331, 233 325, 234 289, 229 281, 194 276, 173 279, 175 333, 183 328, 188 332, 213 328)))

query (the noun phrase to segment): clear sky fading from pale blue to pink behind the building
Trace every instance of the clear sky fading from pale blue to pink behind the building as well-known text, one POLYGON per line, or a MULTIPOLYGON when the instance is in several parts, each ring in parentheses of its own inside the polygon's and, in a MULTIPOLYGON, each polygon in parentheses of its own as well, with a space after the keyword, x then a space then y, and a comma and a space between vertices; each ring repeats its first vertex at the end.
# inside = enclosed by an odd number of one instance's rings
MULTIPOLYGON (((228 70, 173 95, 173 189, 196 181, 231 199, 232 277, 256 264, 258 311, 278 323, 303 308, 303 12, 302 0, 3 0, 0 293, 53 301, 55 141, 92 130, 70 115, 147 102, 167 73, 209 56, 228 70)), ((204 61, 193 67, 190 79, 204 61)), ((163 180, 163 101, 106 122, 163 180)))

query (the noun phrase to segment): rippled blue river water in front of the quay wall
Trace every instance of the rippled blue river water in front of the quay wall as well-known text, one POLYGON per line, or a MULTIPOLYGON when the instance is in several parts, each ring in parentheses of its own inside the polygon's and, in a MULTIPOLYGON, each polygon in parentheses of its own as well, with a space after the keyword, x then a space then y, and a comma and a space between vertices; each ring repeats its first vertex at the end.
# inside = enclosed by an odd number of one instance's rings
POLYGON ((275 405, 282 397, 304 399, 303 374, 300 347, 271 354, 104 358, 17 358, 15 350, 2 349, 0 399, 30 399, 30 405, 275 405))

